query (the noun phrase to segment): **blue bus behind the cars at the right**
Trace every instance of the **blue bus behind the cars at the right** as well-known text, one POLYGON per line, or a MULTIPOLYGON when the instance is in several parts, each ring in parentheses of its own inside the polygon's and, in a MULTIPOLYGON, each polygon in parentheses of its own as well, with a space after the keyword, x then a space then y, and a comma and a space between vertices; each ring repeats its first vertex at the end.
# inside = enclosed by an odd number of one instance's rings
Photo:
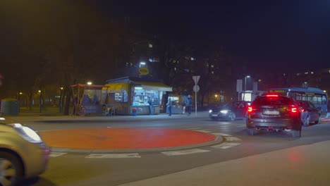
POLYGON ((314 106, 320 107, 322 113, 327 112, 328 95, 322 89, 314 87, 292 87, 281 89, 269 89, 268 92, 276 92, 294 100, 310 101, 314 106))

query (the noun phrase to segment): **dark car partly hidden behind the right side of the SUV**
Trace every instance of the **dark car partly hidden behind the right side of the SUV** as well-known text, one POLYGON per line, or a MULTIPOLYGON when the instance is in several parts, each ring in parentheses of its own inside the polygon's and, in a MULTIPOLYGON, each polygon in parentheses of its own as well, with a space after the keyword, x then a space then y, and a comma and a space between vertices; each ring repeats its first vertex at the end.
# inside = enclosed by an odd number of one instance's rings
POLYGON ((307 127, 311 122, 315 124, 321 122, 321 108, 317 108, 310 101, 295 101, 301 112, 302 125, 307 127))

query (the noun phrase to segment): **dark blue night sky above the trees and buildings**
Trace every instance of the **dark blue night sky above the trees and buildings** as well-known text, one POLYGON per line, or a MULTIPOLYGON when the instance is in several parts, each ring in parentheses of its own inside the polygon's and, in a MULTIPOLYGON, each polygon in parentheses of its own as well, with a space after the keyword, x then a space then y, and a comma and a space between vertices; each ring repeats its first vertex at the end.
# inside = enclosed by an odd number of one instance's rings
POLYGON ((234 60, 247 66, 330 67, 329 0, 98 1, 97 6, 105 15, 114 10, 140 19, 147 30, 200 46, 225 46, 234 60))

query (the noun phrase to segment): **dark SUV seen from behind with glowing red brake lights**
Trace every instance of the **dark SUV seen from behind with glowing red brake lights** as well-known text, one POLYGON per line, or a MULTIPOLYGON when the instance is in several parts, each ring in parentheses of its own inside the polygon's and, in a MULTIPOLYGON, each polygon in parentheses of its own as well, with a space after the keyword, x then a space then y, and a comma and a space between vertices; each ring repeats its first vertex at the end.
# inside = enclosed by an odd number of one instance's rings
POLYGON ((291 132, 292 137, 300 137, 299 107, 291 98, 274 93, 264 94, 248 107, 246 127, 248 135, 255 135, 259 130, 272 130, 291 132))

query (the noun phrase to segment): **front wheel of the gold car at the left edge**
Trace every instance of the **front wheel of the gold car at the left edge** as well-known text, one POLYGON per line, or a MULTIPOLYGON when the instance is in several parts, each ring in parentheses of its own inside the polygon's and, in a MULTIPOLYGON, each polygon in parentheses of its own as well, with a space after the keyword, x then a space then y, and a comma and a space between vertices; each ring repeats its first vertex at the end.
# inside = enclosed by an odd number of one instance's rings
POLYGON ((14 154, 0 151, 0 185, 18 185, 23 178, 23 165, 14 154))

